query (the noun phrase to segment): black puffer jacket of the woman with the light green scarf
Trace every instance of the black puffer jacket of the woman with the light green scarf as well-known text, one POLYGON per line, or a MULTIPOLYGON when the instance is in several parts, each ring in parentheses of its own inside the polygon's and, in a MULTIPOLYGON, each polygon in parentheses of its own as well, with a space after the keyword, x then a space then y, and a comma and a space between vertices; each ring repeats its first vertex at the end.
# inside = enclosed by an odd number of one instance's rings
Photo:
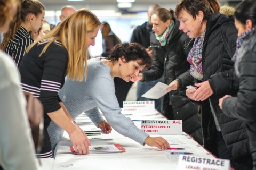
POLYGON ((169 119, 182 120, 183 131, 202 143, 201 122, 197 115, 198 106, 189 102, 185 92, 186 84, 191 84, 193 81, 193 78, 185 73, 189 69, 189 63, 186 61, 188 53, 184 48, 190 38, 179 30, 179 24, 179 21, 175 21, 165 46, 159 44, 155 32, 151 33, 153 65, 149 71, 142 73, 145 81, 156 80, 162 76, 165 84, 170 84, 175 79, 182 80, 178 90, 164 96, 162 112, 169 119))

